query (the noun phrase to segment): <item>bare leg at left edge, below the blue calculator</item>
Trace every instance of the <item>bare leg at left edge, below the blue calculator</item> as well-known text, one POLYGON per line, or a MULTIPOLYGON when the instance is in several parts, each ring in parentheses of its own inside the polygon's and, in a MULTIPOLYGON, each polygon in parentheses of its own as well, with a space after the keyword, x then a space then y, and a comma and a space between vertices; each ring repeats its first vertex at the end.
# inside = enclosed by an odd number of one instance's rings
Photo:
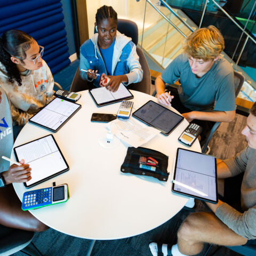
POLYGON ((0 224, 10 228, 37 232, 49 228, 29 211, 22 211, 21 202, 12 185, 0 188, 0 224))

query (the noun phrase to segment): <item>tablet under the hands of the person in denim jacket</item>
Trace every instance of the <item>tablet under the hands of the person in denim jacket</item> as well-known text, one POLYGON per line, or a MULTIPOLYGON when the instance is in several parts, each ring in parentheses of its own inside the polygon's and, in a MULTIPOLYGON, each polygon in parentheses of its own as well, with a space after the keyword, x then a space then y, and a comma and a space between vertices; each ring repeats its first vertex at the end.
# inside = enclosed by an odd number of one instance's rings
POLYGON ((110 92, 106 87, 99 87, 90 89, 89 93, 98 107, 106 106, 122 100, 133 99, 132 93, 124 86, 123 83, 119 85, 116 92, 110 92))

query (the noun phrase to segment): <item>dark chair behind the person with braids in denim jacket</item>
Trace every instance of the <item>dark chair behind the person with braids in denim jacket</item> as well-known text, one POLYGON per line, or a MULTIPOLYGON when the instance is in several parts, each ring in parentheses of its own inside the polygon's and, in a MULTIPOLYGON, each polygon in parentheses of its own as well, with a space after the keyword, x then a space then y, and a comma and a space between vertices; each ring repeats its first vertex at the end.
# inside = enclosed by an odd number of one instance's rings
MULTIPOLYGON (((137 45, 138 44, 138 26, 135 22, 131 20, 125 20, 125 19, 118 19, 117 22, 117 30, 132 38, 132 42, 137 45)), ((94 27, 94 33, 97 33, 95 27, 94 27)), ((128 89, 139 91, 139 92, 144 92, 147 94, 150 94, 151 90, 151 75, 150 75, 150 70, 148 67, 147 60, 145 58, 145 55, 143 54, 142 50, 140 48, 136 48, 136 52, 139 55, 139 61, 141 68, 143 70, 143 77, 142 80, 139 83, 135 84, 130 84, 128 89)), ((83 90, 88 90, 92 87, 92 84, 88 81, 84 81, 80 77, 80 71, 79 67, 76 70, 75 77, 73 79, 73 82, 70 87, 71 92, 78 92, 78 91, 83 91, 83 90)))

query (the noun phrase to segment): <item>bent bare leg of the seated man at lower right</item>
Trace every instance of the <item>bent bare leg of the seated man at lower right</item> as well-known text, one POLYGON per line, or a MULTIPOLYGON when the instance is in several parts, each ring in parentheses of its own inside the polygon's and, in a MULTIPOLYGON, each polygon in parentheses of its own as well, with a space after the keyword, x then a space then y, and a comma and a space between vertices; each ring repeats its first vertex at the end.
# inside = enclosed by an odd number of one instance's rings
POLYGON ((179 251, 195 255, 202 251, 204 242, 234 246, 246 244, 247 239, 237 235, 212 212, 192 213, 178 230, 179 251))

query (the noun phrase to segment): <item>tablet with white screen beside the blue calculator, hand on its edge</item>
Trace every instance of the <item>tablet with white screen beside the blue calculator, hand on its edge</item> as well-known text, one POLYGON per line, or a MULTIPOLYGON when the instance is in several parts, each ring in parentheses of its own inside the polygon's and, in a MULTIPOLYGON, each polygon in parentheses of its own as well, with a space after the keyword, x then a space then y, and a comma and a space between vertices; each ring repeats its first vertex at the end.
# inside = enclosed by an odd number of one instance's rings
POLYGON ((69 170, 52 134, 15 147, 17 161, 25 159, 29 164, 32 179, 24 182, 26 188, 31 188, 69 170))

